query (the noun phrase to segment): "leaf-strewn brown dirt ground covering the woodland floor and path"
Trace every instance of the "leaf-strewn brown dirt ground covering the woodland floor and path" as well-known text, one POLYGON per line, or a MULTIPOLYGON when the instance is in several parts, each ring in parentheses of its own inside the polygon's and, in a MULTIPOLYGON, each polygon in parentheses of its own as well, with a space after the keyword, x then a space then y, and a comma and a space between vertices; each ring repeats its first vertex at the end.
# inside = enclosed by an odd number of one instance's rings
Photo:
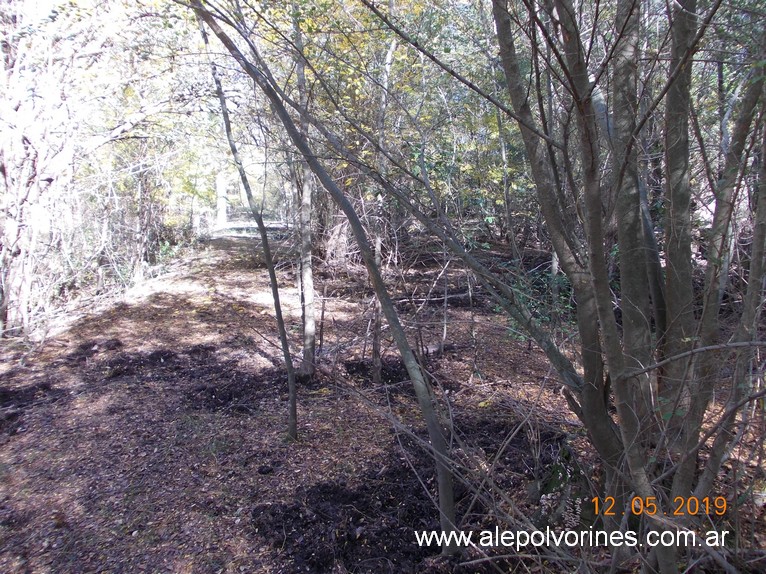
MULTIPOLYGON (((438 526, 433 464, 390 344, 383 384, 371 382, 361 272, 317 277, 319 372, 299 389, 300 436, 287 441, 287 382, 256 252, 250 240, 213 242, 56 326, 42 345, 3 343, 0 572, 554 572, 605 559, 546 549, 490 563, 470 549, 446 560, 416 544, 415 530, 438 526)), ((444 278, 411 272, 423 294, 444 278)), ((289 265, 280 277, 299 356, 289 265)), ((446 278, 467 285, 457 271, 446 278)), ((445 309, 418 297, 402 311, 428 347, 445 309)), ((599 470, 547 361, 478 293, 446 312, 449 344, 424 361, 448 397, 466 479, 461 528, 523 526, 524 517, 566 526, 599 470), (560 491, 570 502, 546 506, 560 491)))

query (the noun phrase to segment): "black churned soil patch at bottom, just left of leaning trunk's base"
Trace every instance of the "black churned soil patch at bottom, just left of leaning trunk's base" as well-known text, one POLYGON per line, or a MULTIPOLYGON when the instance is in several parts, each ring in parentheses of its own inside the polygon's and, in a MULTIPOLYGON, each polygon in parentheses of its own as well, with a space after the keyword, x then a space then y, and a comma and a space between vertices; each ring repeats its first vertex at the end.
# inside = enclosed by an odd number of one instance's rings
POLYGON ((425 562, 439 549, 420 548, 413 532, 438 527, 433 503, 395 460, 354 484, 320 482, 301 487, 292 502, 256 505, 254 535, 280 549, 295 572, 435 572, 425 562))

